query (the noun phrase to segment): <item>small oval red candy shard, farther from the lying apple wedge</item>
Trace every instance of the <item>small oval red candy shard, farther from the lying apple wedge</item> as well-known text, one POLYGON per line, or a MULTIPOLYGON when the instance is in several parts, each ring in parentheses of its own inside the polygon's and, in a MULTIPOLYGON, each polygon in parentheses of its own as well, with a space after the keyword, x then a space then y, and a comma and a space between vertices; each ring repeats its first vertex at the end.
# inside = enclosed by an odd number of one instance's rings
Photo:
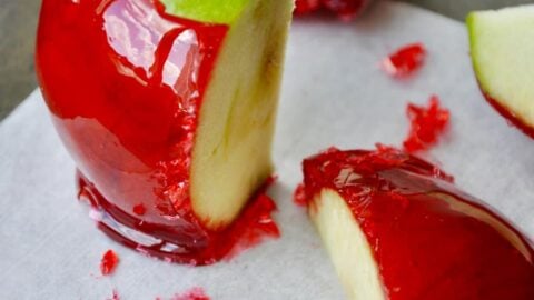
POLYGON ((394 77, 407 77, 423 66, 425 58, 425 47, 422 43, 413 43, 389 54, 382 64, 384 70, 394 77))

